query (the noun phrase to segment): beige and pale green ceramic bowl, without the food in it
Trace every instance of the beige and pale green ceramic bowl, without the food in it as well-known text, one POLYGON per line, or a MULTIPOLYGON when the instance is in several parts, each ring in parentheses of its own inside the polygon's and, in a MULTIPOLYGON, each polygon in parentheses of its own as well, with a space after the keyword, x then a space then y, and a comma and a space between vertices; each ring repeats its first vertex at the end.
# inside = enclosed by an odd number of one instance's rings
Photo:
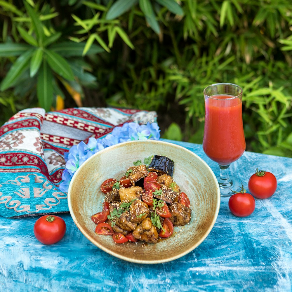
POLYGON ((180 258, 201 244, 216 221, 220 190, 211 168, 190 150, 163 141, 130 141, 105 148, 81 165, 69 185, 68 205, 79 230, 100 249, 133 263, 155 264, 180 258), (91 215, 102 211, 102 182, 121 177, 134 161, 155 154, 174 161, 173 179, 190 199, 190 223, 174 227, 173 235, 157 244, 116 244, 112 236, 95 234, 91 215))

